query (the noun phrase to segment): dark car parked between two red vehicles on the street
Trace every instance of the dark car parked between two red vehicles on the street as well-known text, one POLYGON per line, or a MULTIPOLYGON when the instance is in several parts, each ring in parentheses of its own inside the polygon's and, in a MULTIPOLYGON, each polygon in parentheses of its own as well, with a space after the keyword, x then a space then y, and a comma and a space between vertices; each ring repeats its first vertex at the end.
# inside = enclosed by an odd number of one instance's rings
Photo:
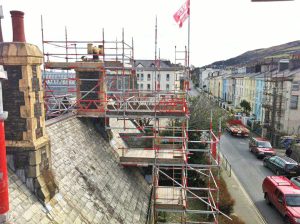
POLYGON ((295 177, 300 175, 299 164, 286 156, 271 156, 265 157, 263 160, 264 166, 272 170, 276 175, 286 177, 295 177))

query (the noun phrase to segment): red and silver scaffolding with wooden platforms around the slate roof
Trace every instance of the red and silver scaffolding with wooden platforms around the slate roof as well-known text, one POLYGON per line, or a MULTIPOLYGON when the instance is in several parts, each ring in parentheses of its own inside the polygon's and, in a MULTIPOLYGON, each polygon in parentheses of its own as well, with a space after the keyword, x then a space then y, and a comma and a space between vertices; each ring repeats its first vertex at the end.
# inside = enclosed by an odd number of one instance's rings
MULTIPOLYGON (((186 48, 177 51, 175 47, 175 55, 183 55, 175 56, 175 64, 182 69, 179 89, 160 90, 155 73, 152 77, 155 88, 139 90, 133 40, 131 45, 125 43, 124 30, 121 41, 106 41, 104 30, 100 41, 69 40, 67 31, 65 40, 49 41, 44 39, 42 25, 42 38, 44 73, 49 70, 67 73, 63 86, 53 85, 53 79, 59 77, 43 80, 47 118, 70 112, 102 117, 106 130, 125 132, 119 137, 127 145, 119 148, 120 164, 152 167, 149 223, 160 223, 166 213, 175 214, 173 223, 218 223, 219 137, 212 127, 189 130, 190 73, 186 48), (57 94, 54 87, 66 88, 67 94, 57 94), (122 125, 110 125, 109 119, 117 119, 122 125), (129 130, 138 132, 129 134, 129 130), (134 142, 140 144, 133 147, 134 142), (197 153, 205 158, 203 162, 191 161, 197 153), (207 186, 195 183, 196 177, 207 186)), ((155 71, 160 71, 156 55, 155 71)))

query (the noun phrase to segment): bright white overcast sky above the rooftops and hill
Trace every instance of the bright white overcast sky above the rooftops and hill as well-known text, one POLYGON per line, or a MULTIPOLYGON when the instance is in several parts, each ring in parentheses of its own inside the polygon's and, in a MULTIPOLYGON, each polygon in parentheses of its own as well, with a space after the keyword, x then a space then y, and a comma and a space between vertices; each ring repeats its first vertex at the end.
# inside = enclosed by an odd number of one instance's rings
MULTIPOLYGON (((300 1, 253 3, 251 0, 190 0, 190 64, 204 66, 248 50, 300 40, 300 1)), ((160 57, 172 62, 175 45, 188 45, 188 22, 178 27, 173 14, 185 0, 0 0, 4 41, 12 41, 9 11, 25 13, 28 43, 45 40, 134 40, 135 59, 154 59, 155 17, 160 57)))

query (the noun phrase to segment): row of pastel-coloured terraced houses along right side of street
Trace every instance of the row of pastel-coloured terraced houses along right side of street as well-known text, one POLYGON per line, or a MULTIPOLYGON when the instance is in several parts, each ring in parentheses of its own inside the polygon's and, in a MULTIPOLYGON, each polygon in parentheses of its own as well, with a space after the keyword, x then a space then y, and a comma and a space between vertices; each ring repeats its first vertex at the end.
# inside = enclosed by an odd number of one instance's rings
POLYGON ((261 134, 274 144, 282 135, 300 134, 300 59, 212 72, 207 81, 209 94, 223 101, 223 108, 232 103, 237 111, 248 101, 261 134))

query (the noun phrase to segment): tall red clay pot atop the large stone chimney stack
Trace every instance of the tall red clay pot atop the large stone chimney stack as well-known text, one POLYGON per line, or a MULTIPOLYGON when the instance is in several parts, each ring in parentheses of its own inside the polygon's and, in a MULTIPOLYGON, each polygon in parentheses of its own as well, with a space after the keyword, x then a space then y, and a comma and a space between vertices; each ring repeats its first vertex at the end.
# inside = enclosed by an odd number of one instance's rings
POLYGON ((10 11, 13 26, 13 42, 26 42, 24 33, 24 12, 10 11))

